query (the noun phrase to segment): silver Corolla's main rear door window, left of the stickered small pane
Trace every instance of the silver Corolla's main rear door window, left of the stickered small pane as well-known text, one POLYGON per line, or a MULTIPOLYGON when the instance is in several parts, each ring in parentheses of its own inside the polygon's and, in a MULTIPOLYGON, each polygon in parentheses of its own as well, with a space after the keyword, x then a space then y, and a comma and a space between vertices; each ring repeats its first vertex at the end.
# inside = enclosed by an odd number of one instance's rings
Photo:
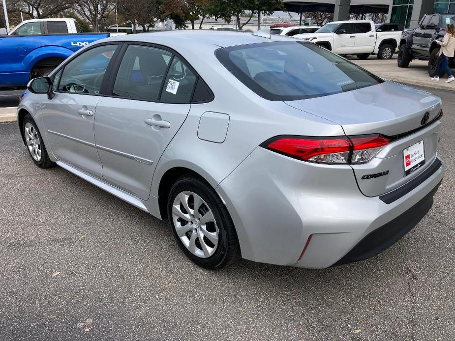
POLYGON ((113 95, 157 101, 172 54, 150 46, 129 45, 120 63, 113 95))

